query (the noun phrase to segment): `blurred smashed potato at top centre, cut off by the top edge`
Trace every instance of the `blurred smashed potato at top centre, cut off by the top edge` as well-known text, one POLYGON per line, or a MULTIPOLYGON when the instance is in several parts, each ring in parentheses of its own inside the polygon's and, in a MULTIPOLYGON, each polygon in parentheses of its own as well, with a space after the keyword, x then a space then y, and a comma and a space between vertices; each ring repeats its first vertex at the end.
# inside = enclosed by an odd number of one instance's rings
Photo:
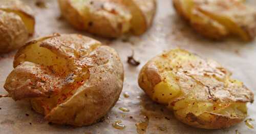
POLYGON ((152 24, 155 0, 58 0, 62 15, 76 29, 103 37, 132 31, 143 34, 152 24))

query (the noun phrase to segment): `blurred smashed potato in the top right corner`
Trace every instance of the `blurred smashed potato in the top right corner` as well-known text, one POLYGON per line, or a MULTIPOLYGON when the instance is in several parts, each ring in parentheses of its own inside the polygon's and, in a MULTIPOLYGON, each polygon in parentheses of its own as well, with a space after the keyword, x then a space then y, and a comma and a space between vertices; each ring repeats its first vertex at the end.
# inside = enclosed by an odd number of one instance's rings
POLYGON ((177 13, 200 34, 211 39, 229 35, 245 41, 256 35, 256 10, 243 0, 173 0, 177 13))

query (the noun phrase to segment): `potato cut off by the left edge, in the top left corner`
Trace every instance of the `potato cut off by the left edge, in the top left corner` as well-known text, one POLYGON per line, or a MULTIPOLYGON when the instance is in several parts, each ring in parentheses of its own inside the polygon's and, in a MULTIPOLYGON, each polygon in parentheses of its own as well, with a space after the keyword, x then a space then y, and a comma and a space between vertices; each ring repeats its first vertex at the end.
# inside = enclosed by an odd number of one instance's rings
POLYGON ((34 25, 30 7, 18 0, 0 0, 0 53, 23 46, 33 35, 34 25))

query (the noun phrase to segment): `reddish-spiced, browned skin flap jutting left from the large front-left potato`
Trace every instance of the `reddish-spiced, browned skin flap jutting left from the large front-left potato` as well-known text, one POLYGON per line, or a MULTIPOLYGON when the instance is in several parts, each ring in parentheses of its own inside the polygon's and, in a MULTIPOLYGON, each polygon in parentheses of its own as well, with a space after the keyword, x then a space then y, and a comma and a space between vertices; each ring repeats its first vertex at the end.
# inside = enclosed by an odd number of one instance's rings
POLYGON ((49 92, 53 91, 51 84, 37 82, 43 81, 42 78, 52 79, 54 83, 60 82, 60 79, 56 79, 48 68, 27 61, 20 63, 8 77, 12 79, 6 80, 5 89, 15 101, 31 97, 48 97, 52 94, 49 92), (37 83, 33 88, 41 88, 41 90, 31 90, 30 83, 37 83))

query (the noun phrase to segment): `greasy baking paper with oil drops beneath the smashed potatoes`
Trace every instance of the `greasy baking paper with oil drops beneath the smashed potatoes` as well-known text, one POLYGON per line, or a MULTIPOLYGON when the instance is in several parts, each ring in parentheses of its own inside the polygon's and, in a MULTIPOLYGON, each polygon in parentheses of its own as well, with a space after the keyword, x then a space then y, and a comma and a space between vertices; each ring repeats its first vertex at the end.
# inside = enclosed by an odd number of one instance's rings
MULTIPOLYGON (((125 35, 116 40, 92 36, 74 30, 64 19, 61 19, 56 1, 45 1, 47 8, 38 8, 36 1, 24 0, 33 7, 36 15, 36 33, 34 37, 58 33, 81 33, 101 40, 115 48, 124 64, 125 79, 123 92, 105 120, 91 126, 72 127, 48 124, 42 115, 35 113, 26 101, 14 102, 11 98, 0 98, 0 133, 136 133, 136 123, 149 119, 146 133, 256 133, 244 122, 227 129, 205 130, 187 126, 175 119, 172 111, 151 101, 139 88, 137 77, 139 70, 157 54, 164 50, 180 47, 198 55, 217 60, 256 94, 256 41, 241 42, 239 39, 226 39, 214 42, 202 38, 186 25, 175 13, 171 0, 158 0, 158 10, 154 24, 142 36, 125 35), (128 40, 128 41, 127 41, 128 40), (141 64, 131 66, 126 60, 135 51, 135 59, 141 64), (124 98, 127 92, 130 97, 124 98), (129 112, 119 107, 130 109, 129 112), (27 114, 27 115, 26 115, 27 114), (131 119, 132 118, 132 119, 131 119), (116 120, 121 120, 125 129, 112 127, 116 120)), ((256 2, 248 1, 256 7, 256 2)), ((11 72, 15 52, 0 57, 0 94, 7 94, 3 85, 11 72)), ((248 118, 256 119, 256 103, 248 104, 248 118)), ((256 122, 251 122, 256 126, 256 122)))

